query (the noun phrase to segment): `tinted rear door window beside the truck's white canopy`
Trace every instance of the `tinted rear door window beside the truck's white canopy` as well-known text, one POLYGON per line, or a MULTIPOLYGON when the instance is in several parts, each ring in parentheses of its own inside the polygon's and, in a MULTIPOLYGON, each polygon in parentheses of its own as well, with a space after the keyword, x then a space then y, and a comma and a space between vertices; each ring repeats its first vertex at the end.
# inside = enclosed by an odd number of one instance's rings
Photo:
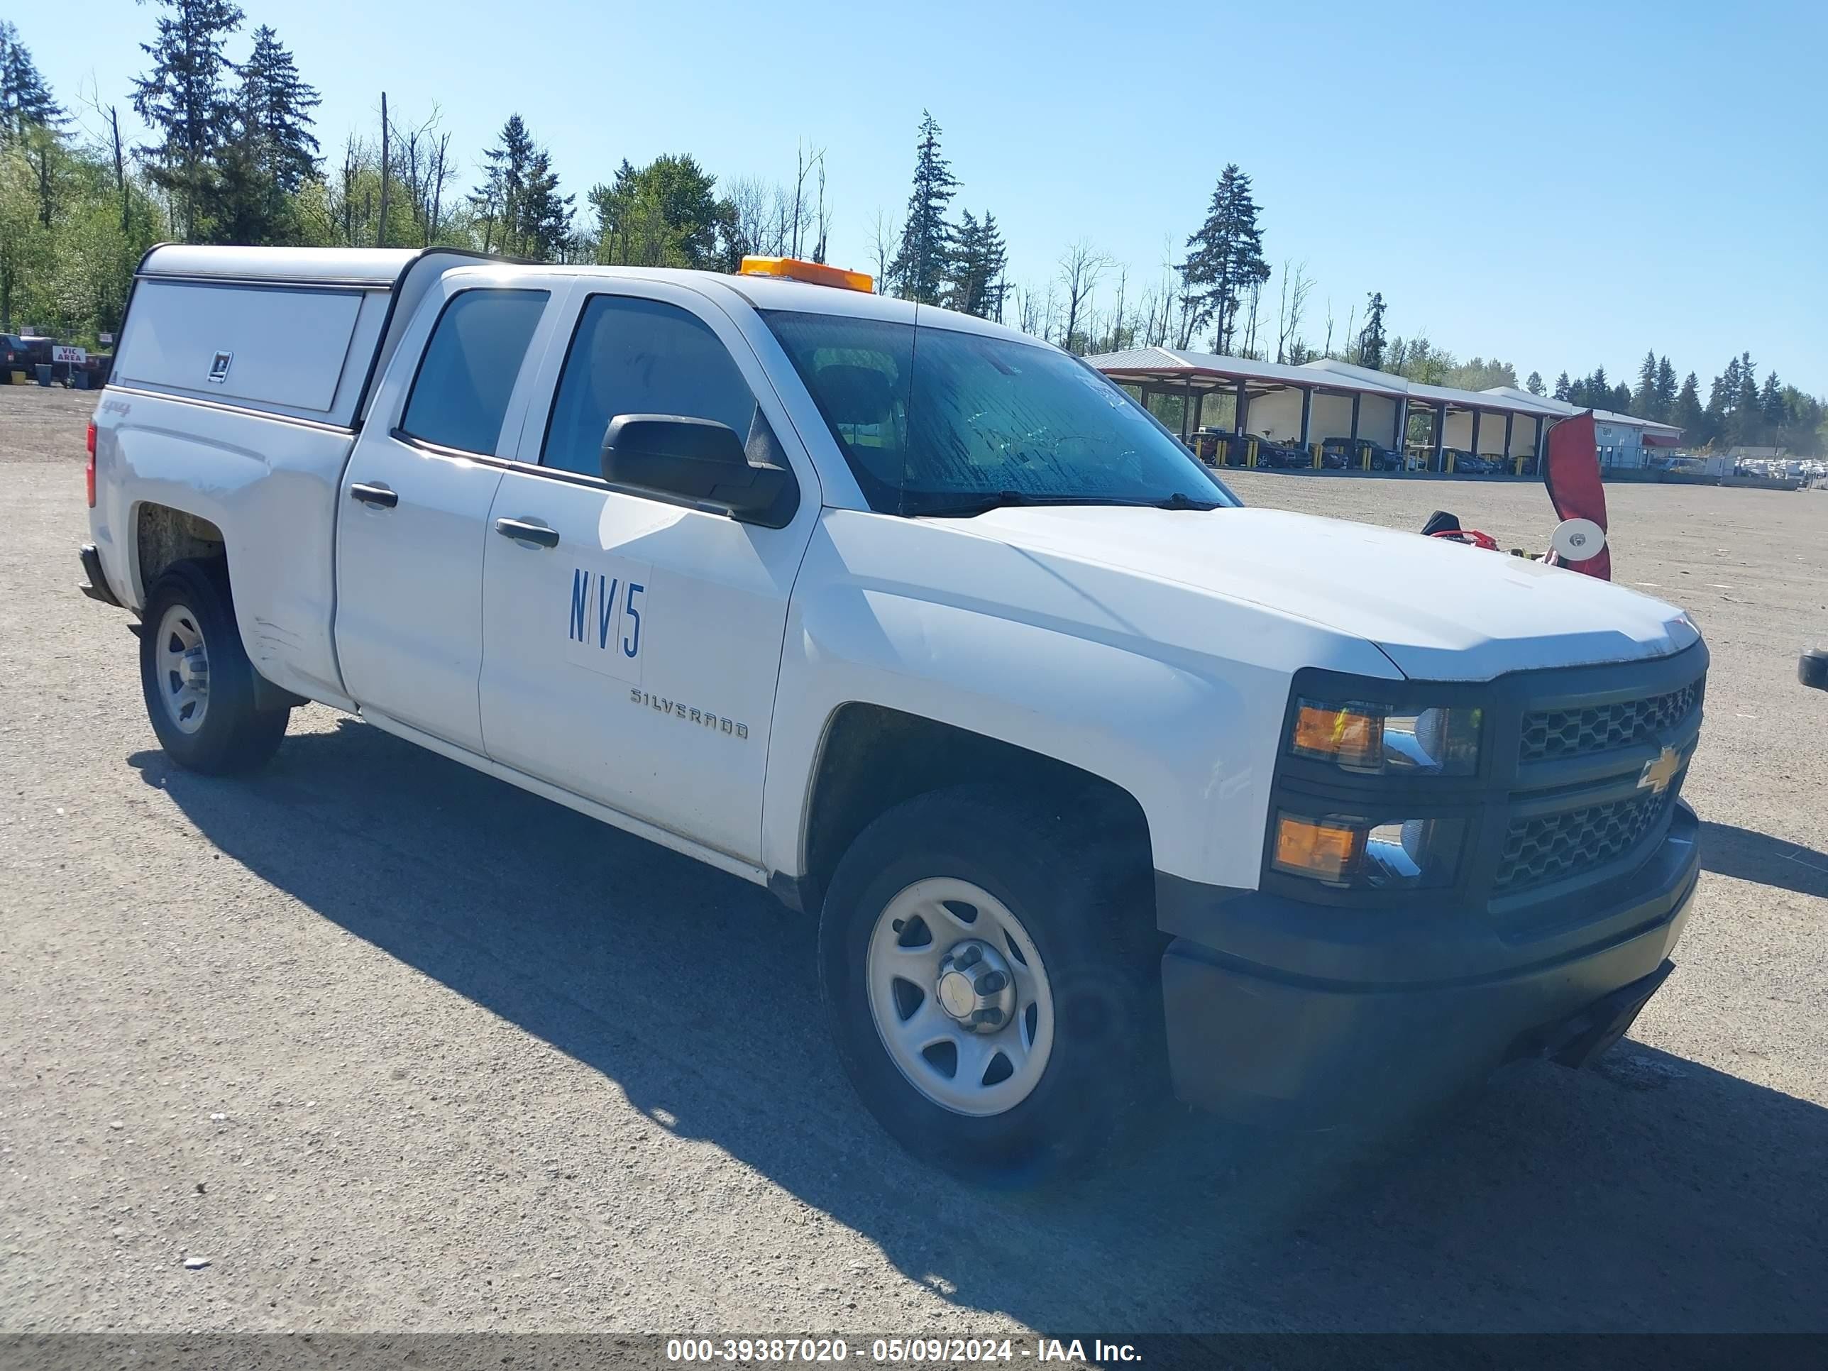
POLYGON ((547 291, 477 287, 446 300, 419 360, 400 433, 492 455, 547 298, 547 291))

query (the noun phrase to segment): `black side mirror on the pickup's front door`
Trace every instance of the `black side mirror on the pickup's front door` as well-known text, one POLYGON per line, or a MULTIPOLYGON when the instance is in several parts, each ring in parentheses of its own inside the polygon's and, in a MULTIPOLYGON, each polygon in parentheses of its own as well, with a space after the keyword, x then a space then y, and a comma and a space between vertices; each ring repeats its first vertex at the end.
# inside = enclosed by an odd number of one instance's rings
POLYGON ((729 424, 684 415, 618 415, 603 433, 603 479, 643 495, 709 506, 782 528, 799 505, 786 466, 757 466, 729 424))

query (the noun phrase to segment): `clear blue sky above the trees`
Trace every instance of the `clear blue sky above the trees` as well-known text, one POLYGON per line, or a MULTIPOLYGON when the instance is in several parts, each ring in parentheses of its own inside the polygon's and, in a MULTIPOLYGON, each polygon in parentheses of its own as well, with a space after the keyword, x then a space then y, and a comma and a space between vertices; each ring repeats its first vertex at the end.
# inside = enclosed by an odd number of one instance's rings
MULTIPOLYGON (((830 256, 865 267, 930 108, 956 207, 996 214, 1015 280, 1046 280, 1079 238, 1159 278, 1236 161, 1267 256, 1318 282, 1311 342, 1329 298, 1338 338, 1382 291, 1393 333, 1519 377, 1629 380, 1654 347, 1706 399, 1751 349, 1760 375, 1828 393, 1819 0, 243 5, 322 90, 325 150, 373 132, 386 90, 397 122, 442 108, 466 185, 510 112, 576 192, 662 152, 784 179, 806 139, 826 148, 830 256)), ((128 115, 155 13, 13 18, 66 104, 99 91, 128 115)))

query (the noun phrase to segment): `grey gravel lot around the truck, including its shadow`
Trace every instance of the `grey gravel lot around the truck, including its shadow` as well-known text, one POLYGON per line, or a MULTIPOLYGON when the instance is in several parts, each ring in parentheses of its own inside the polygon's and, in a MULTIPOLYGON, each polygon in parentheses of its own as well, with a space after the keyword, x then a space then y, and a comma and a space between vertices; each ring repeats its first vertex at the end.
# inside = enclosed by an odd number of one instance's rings
MULTIPOLYGON (((1601 1069, 1380 1146, 1170 1111, 985 1196, 856 1104, 766 894, 322 707, 258 779, 170 768, 75 589, 93 399, 0 388, 0 1329, 1828 1327, 1828 494, 1609 492, 1715 669, 1696 916, 1601 1069)), ((1534 484, 1236 486, 1552 525, 1534 484)))

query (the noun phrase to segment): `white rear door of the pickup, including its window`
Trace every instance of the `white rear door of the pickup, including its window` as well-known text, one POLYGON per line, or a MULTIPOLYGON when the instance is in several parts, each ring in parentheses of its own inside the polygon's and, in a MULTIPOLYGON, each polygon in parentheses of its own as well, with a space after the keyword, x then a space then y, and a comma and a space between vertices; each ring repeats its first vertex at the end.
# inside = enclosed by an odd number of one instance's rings
POLYGON ((488 508, 550 300, 548 282, 441 282, 400 340, 338 499, 336 654, 349 696, 475 753, 488 508))

